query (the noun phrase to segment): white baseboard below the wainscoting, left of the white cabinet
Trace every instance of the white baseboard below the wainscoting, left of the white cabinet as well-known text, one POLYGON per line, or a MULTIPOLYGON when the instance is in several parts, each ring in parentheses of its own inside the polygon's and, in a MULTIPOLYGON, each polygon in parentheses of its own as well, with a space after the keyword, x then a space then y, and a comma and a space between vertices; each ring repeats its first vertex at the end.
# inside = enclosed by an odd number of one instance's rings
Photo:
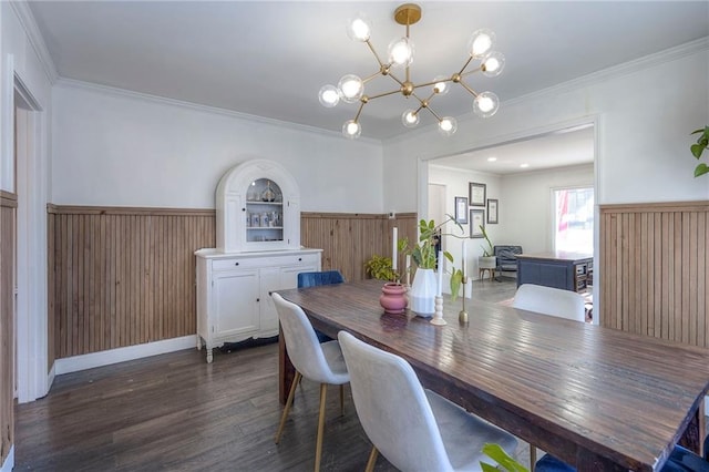
POLYGON ((166 339, 164 341, 147 342, 144 345, 129 346, 126 348, 110 349, 89 355, 73 356, 54 361, 54 374, 76 372, 79 370, 93 369, 94 367, 110 366, 126 360, 141 359, 166 352, 179 351, 197 347, 197 336, 183 336, 182 338, 166 339))

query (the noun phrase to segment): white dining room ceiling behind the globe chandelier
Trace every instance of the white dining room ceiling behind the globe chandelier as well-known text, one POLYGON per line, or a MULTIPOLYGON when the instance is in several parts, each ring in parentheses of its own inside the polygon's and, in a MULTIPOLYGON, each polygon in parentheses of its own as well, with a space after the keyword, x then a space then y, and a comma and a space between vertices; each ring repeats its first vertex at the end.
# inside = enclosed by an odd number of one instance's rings
MULTIPOLYGON (((31 11, 63 79, 85 81, 339 133, 357 105, 326 109, 317 94, 346 73, 378 70, 368 48, 351 41, 349 18, 364 12, 380 55, 403 35, 391 1, 34 1, 31 11)), ((466 78, 504 102, 709 35, 708 1, 427 1, 411 27, 411 79, 459 71, 470 34, 490 28, 506 57, 502 75, 466 78)), ((403 74, 399 74, 403 75, 403 74)), ((366 93, 393 90, 389 78, 366 93)), ((461 88, 435 96, 441 116, 471 113, 461 88)), ((362 136, 408 132, 399 93, 372 100, 362 136)), ((482 120, 482 119, 473 119, 482 120)), ((473 122, 474 123, 474 122, 473 122)), ((430 114, 421 125, 433 125, 430 114)), ((558 136, 557 136, 558 137, 558 136)), ((530 144, 527 143, 527 150, 530 144)), ((548 154, 548 153, 547 153, 548 154)), ((503 150, 499 151, 499 158, 503 150)), ((500 171, 499 172, 503 172, 500 171)))

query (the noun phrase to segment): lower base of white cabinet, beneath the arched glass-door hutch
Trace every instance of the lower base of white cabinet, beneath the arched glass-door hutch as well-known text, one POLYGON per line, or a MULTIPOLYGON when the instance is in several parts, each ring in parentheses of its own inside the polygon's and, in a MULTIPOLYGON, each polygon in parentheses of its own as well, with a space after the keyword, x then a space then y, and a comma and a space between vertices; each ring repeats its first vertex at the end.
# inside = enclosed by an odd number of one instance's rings
POLYGON ((321 249, 197 256, 197 349, 278 335, 274 290, 296 288, 298 274, 320 270, 321 249))

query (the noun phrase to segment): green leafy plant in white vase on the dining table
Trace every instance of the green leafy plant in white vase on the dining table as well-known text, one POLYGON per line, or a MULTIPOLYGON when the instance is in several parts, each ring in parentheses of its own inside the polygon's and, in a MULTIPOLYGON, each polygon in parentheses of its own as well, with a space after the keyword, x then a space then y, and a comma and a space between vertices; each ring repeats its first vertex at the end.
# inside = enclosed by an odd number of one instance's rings
MULTIPOLYGON (((456 236, 450 233, 443 233, 443 227, 453 222, 463 233, 463 227, 451 215, 446 215, 443 223, 435 224, 433 219, 419 222, 419 243, 411 244, 408 238, 399 239, 398 250, 411 255, 417 266, 417 271, 411 285, 410 302, 411 309, 422 315, 431 315, 434 312, 435 295, 438 294, 438 281, 435 279, 434 269, 436 268, 438 254, 435 246, 439 238, 444 235, 456 236)), ((443 252, 443 256, 452 264, 453 256, 451 253, 443 252)), ((412 268, 409 268, 411 270, 412 268)), ((443 267, 440 267, 442 270, 443 267)), ((455 298, 463 281, 463 273, 453 268, 451 275, 451 294, 455 298)))

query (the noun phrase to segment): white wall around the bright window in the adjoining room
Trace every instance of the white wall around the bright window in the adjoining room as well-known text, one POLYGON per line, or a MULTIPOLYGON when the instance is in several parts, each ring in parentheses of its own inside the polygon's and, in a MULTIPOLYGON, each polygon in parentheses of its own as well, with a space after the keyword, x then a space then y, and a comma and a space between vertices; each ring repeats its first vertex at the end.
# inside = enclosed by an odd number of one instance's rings
POLYGON ((500 201, 503 230, 493 242, 522 246, 525 253, 552 250, 552 189, 574 186, 594 186, 593 165, 505 175, 500 201))

